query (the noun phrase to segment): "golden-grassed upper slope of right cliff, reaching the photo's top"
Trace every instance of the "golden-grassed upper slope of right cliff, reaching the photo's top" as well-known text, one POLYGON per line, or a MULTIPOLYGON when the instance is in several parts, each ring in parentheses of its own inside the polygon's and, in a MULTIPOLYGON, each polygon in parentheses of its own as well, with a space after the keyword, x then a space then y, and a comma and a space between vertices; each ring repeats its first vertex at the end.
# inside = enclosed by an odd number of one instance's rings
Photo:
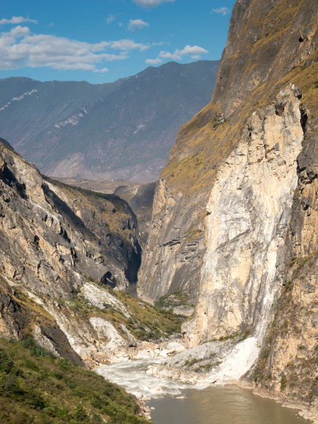
POLYGON ((242 136, 247 118, 272 103, 286 85, 299 87, 308 118, 317 116, 317 51, 308 56, 317 32, 317 17, 310 12, 312 4, 308 0, 281 0, 264 15, 258 0, 251 1, 236 28, 240 37, 231 35, 231 48, 220 64, 213 103, 179 130, 170 151, 161 178, 173 191, 191 195, 211 186, 215 167, 242 136), (301 58, 306 59, 299 63, 301 58), (292 63, 298 66, 288 71, 292 63), (222 122, 221 102, 226 103, 227 98, 231 99, 227 108, 232 112, 222 122))

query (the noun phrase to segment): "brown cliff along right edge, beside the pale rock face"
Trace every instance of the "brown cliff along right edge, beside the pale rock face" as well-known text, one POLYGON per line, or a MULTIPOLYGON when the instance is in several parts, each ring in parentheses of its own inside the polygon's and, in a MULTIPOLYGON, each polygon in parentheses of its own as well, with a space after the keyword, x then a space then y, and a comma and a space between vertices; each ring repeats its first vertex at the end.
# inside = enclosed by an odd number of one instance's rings
POLYGON ((254 370, 257 390, 317 402, 317 116, 297 157, 297 189, 284 247, 283 290, 254 370))

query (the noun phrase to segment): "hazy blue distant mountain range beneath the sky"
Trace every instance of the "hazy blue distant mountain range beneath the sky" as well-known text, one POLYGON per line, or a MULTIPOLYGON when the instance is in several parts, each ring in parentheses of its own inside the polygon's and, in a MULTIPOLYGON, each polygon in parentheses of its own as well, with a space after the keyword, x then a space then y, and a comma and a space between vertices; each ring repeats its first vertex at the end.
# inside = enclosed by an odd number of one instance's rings
POLYGON ((169 62, 100 85, 0 80, 0 136, 46 175, 154 181, 179 127, 211 100, 218 63, 169 62))

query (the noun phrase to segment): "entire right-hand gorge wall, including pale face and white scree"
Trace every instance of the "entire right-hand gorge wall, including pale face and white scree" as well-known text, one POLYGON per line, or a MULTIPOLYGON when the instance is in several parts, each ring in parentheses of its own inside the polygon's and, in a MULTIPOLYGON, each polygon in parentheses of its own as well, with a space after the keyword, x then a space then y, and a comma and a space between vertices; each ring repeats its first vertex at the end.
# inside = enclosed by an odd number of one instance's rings
POLYGON ((145 299, 196 299, 188 346, 233 340, 211 376, 250 369, 258 390, 311 403, 317 88, 317 2, 238 0, 211 103, 161 172, 139 272, 145 299))

